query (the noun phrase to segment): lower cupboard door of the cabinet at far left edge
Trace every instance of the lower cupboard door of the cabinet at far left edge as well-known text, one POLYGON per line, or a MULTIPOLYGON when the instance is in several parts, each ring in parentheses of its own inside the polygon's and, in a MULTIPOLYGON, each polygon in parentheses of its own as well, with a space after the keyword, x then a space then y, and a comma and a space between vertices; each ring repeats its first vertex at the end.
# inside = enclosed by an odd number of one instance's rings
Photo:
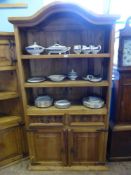
POLYGON ((0 130, 0 165, 4 165, 4 161, 12 162, 21 157, 21 129, 16 126, 0 130))

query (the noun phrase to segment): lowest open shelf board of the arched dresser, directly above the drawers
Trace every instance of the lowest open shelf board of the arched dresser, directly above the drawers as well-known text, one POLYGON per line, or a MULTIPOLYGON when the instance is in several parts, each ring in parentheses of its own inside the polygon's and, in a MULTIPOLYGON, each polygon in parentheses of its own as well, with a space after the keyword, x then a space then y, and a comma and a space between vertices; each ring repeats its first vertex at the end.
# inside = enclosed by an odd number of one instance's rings
POLYGON ((67 109, 58 109, 54 106, 49 108, 37 108, 35 106, 28 106, 27 107, 27 115, 76 115, 76 114, 83 114, 83 115, 106 115, 107 109, 106 107, 100 109, 90 109, 86 108, 82 105, 72 105, 67 109))

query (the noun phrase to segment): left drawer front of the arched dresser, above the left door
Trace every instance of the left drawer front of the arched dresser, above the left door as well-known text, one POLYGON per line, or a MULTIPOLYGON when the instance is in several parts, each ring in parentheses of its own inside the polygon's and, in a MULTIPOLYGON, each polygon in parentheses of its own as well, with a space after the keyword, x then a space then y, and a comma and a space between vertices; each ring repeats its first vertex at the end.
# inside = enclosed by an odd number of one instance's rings
POLYGON ((65 116, 29 116, 29 126, 63 126, 65 116))

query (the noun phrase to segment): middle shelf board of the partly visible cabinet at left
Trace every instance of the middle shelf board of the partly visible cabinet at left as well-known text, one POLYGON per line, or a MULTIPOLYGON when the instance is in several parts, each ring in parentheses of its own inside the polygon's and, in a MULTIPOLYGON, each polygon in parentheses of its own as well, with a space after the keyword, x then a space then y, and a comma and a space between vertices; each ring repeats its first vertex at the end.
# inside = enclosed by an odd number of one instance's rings
POLYGON ((0 100, 7 100, 12 98, 17 98, 18 93, 17 92, 0 92, 0 100))

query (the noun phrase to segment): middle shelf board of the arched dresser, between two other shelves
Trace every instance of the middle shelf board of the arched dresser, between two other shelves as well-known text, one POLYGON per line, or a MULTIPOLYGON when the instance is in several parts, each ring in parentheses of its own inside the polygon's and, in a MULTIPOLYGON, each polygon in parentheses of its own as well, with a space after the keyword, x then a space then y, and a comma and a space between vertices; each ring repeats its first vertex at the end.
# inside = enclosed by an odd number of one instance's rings
POLYGON ((25 83, 24 86, 26 88, 33 88, 33 87, 88 87, 88 86, 94 86, 94 87, 102 87, 102 86, 109 86, 108 81, 101 81, 101 82, 89 82, 84 80, 76 80, 76 81, 70 81, 65 80, 61 82, 52 82, 52 81, 44 81, 41 83, 25 83))

